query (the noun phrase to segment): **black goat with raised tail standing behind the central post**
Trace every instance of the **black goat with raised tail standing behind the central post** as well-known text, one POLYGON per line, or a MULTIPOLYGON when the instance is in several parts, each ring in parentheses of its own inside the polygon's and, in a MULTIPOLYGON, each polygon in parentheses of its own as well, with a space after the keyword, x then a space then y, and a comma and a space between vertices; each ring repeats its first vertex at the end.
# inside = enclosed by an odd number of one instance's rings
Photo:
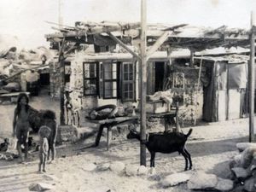
MULTIPOLYGON (((154 166, 154 157, 156 152, 163 154, 171 154, 173 152, 178 152, 182 154, 186 161, 185 171, 192 168, 192 160, 188 150, 185 148, 185 143, 192 133, 192 129, 189 130, 188 134, 183 134, 181 132, 158 132, 149 133, 148 139, 145 142, 149 153, 151 154, 150 166, 154 166)), ((136 130, 131 130, 127 135, 128 139, 137 138, 141 141, 140 133, 136 130)), ((142 141, 141 141, 142 142, 142 141)))

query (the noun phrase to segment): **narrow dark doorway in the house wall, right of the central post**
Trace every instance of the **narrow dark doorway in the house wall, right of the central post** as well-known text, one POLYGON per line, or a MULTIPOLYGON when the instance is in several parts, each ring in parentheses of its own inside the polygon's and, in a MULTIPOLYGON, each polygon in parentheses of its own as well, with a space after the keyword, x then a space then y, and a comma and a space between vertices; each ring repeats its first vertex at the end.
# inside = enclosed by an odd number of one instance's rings
POLYGON ((165 76, 165 62, 154 62, 154 91, 163 90, 165 76))

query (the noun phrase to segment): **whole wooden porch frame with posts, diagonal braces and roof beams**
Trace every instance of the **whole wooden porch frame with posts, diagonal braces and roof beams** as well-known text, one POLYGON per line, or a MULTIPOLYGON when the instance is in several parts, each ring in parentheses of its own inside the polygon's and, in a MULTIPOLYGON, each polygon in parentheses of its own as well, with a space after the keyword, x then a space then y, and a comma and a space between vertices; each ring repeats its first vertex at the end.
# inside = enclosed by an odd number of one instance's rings
MULTIPOLYGON (((64 60, 67 55, 72 52, 73 49, 76 49, 79 44, 95 44, 95 38, 102 33, 107 33, 108 36, 102 36, 101 38, 106 38, 113 40, 114 44, 119 44, 121 47, 126 49, 137 61, 140 63, 140 104, 141 104, 141 165, 146 166, 146 80, 147 80, 147 61, 150 58, 150 55, 159 49, 161 46, 167 46, 167 52, 170 48, 189 48, 192 51, 191 59, 193 57, 193 52, 195 50, 202 50, 207 48, 219 47, 219 46, 243 46, 248 47, 251 44, 251 59, 249 63, 249 88, 250 88, 250 131, 249 131, 249 140, 250 142, 254 141, 253 135, 253 100, 254 100, 254 33, 255 26, 253 26, 252 21, 252 30, 242 31, 242 30, 227 30, 225 26, 218 27, 204 33, 204 35, 199 34, 194 37, 185 37, 177 31, 177 29, 182 28, 187 25, 179 25, 167 27, 166 29, 156 32, 158 35, 147 35, 147 15, 146 15, 146 0, 141 0, 141 23, 125 24, 121 25, 110 25, 106 24, 96 25, 96 24, 86 24, 82 23, 85 28, 79 28, 81 22, 76 23, 76 27, 65 26, 61 29, 58 29, 60 32, 55 34, 49 34, 45 37, 51 42, 59 43, 59 62, 61 67, 61 125, 65 123, 64 119, 64 60), (139 28, 139 29, 138 29, 139 28), (113 32, 121 31, 126 32, 131 29, 138 29, 140 33, 140 54, 131 50, 126 43, 131 43, 130 38, 127 36, 116 36, 113 32), (72 42, 73 46, 66 51, 67 42, 72 42), (151 45, 147 49, 147 46, 151 45)), ((253 17, 252 17, 253 18, 253 17)), ((54 28, 56 29, 56 28, 54 28)), ((111 43, 113 44, 113 43, 111 43)))

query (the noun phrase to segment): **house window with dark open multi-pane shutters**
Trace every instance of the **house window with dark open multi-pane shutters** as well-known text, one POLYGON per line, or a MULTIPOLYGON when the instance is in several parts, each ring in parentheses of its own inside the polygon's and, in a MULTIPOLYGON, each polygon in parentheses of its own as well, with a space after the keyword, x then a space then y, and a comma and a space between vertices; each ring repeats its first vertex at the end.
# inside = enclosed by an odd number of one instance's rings
POLYGON ((135 62, 84 62, 84 96, 135 102, 135 62))

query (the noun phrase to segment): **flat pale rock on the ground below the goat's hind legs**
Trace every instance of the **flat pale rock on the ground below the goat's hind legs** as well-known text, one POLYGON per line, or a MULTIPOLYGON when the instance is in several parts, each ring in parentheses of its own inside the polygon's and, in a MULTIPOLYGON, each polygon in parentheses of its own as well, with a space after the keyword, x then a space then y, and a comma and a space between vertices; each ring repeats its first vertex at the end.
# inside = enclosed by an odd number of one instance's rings
POLYGON ((168 175, 165 179, 161 181, 163 187, 172 187, 179 183, 185 183, 189 181, 189 174, 186 173, 174 173, 172 175, 168 175))

